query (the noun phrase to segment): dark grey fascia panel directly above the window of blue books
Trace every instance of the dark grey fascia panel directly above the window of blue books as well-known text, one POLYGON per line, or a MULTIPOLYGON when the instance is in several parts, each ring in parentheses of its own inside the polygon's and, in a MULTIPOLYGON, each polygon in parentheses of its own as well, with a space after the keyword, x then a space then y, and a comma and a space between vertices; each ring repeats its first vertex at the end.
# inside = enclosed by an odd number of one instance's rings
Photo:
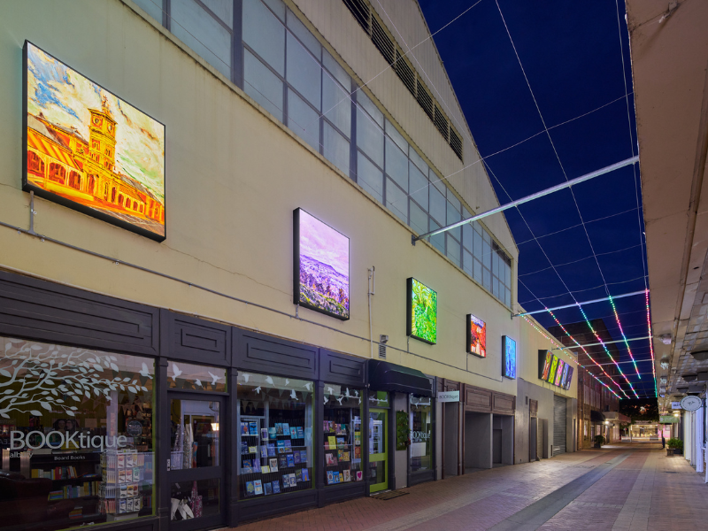
POLYGON ((305 380, 318 375, 317 347, 234 328, 232 366, 305 380))

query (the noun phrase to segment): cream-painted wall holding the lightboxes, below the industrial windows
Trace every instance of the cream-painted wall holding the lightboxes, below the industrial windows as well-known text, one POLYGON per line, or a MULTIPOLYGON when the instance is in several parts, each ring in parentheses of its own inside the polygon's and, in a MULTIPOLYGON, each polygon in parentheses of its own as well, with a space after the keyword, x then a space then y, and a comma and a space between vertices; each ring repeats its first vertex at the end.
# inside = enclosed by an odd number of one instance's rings
POLYGON ((367 268, 375 266, 373 337, 389 335, 389 346, 394 347, 389 349, 390 361, 516 394, 516 383, 500 376, 501 336, 519 338, 520 369, 528 351, 535 363, 538 333, 525 332, 529 327, 523 320, 510 319, 503 304, 430 245, 419 242, 413 247, 410 229, 172 35, 142 19, 134 4, 57 0, 4 1, 0 6, 0 68, 5 73, 0 78, 0 221, 22 228, 29 224, 29 197, 21 191, 25 39, 165 123, 167 174, 165 242, 36 199, 37 233, 119 264, 0 227, 0 266, 362 357, 370 355, 370 343, 361 338, 369 337, 367 268), (294 318, 296 207, 350 237, 349 321, 304 309, 300 317, 311 322, 294 318), (415 340, 409 344, 405 336, 409 276, 438 292, 434 346, 415 340), (469 312, 488 323, 487 359, 466 354, 469 312))

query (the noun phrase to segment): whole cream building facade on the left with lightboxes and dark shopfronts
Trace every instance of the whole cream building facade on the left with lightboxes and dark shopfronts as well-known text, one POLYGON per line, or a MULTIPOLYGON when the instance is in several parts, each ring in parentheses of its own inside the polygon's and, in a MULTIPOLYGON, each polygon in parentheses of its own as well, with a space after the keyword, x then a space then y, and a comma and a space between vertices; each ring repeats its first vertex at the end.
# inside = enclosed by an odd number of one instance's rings
POLYGON ((412 245, 498 205, 416 3, 0 33, 0 528, 235 526, 575 448, 504 217, 412 245))

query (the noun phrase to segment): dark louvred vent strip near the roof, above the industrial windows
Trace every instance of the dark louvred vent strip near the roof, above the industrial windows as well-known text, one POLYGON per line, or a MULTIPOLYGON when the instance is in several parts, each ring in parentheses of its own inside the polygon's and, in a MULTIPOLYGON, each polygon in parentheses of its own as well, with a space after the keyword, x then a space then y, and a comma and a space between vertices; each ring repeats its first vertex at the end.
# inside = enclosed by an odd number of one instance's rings
POLYGON ((425 83, 420 81, 420 77, 411 63, 405 58, 404 53, 396 46, 395 40, 389 35, 379 16, 372 9, 369 0, 343 0, 351 14, 357 19, 358 24, 364 28, 366 34, 371 38, 373 45, 381 52, 381 55, 389 65, 394 66, 398 78, 404 82, 406 89, 411 92, 420 107, 433 121, 437 130, 443 135, 445 142, 450 145, 452 151, 464 162, 462 138, 450 125, 450 120, 440 109, 435 98, 431 96, 430 90, 425 83))

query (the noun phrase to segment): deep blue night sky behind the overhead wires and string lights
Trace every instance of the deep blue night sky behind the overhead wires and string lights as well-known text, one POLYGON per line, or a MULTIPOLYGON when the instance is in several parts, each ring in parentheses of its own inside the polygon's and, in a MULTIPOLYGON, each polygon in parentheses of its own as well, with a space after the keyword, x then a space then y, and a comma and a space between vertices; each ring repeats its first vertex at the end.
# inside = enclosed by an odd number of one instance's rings
MULTIPOLYGON (((475 2, 419 0, 432 33, 475 2)), ((499 202, 620 162, 633 155, 633 146, 636 154, 634 99, 628 96, 630 125, 625 97, 632 76, 624 2, 498 0, 498 6, 535 101, 495 0, 481 0, 434 39, 474 141, 489 157, 499 202)), ((639 186, 638 166, 627 166, 573 187, 573 193, 564 190, 506 211, 519 247, 519 304, 533 311, 644 289, 639 186)), ((644 296, 616 305, 627 337, 647 335, 644 296)), ((609 303, 583 309, 589 319, 603 318, 613 339, 622 339, 609 303)), ((563 324, 582 320, 575 308, 555 313, 563 324)), ((546 327, 556 324, 546 312, 535 317, 546 327)), ((644 360, 641 379, 631 365, 620 367, 639 396, 654 396, 649 342, 629 344, 635 358, 644 360)), ((618 361, 629 359, 626 347, 620 352, 618 361)), ((618 381, 634 397, 624 379, 618 381)))

